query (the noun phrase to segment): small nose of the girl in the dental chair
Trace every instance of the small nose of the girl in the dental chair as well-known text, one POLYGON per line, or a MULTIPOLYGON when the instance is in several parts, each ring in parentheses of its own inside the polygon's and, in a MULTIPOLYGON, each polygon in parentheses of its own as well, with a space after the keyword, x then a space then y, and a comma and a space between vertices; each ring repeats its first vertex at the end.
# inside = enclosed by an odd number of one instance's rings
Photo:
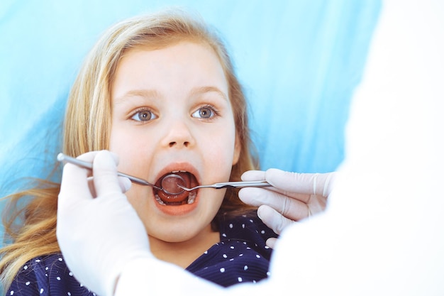
POLYGON ((194 145, 192 130, 187 122, 176 120, 167 126, 162 146, 166 148, 191 148, 194 145))

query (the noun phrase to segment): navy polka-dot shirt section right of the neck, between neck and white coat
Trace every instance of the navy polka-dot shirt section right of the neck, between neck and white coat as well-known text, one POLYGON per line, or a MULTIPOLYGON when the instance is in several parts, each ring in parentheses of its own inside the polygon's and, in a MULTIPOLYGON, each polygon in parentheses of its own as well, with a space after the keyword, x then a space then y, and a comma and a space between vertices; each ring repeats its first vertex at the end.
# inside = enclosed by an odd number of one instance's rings
POLYGON ((209 248, 187 270, 224 287, 267 278, 272 249, 265 245, 274 232, 254 216, 220 221, 221 242, 209 248))

